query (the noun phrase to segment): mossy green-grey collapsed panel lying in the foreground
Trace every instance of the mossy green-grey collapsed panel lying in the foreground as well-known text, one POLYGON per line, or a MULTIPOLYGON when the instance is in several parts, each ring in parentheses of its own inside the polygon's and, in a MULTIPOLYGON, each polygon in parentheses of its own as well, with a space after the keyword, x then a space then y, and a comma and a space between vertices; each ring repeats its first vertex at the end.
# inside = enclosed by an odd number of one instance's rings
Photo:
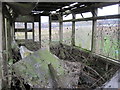
POLYGON ((40 49, 14 64, 17 76, 32 88, 77 87, 81 64, 58 59, 47 49, 40 49), (52 68, 51 68, 52 67, 52 68))

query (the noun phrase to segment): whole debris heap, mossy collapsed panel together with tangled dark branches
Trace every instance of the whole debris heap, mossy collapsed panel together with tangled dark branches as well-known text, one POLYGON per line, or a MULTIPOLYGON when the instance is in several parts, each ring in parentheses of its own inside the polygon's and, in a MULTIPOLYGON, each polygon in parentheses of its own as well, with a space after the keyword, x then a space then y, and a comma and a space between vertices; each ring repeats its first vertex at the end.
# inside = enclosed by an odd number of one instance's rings
POLYGON ((23 83, 22 86, 92 89, 108 87, 111 83, 107 81, 114 78, 115 72, 119 70, 119 66, 78 48, 53 44, 50 51, 39 49, 13 65, 13 71, 20 83, 23 83))

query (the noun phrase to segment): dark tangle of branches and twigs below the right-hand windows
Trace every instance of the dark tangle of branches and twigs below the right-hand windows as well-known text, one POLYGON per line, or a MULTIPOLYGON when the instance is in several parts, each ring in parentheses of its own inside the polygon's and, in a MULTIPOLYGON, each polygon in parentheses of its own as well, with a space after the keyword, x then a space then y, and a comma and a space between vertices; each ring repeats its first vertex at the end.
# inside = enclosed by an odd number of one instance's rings
POLYGON ((80 62, 81 72, 79 88, 97 88, 102 86, 119 70, 119 66, 109 63, 103 58, 91 54, 87 50, 81 50, 59 43, 52 43, 50 50, 57 57, 66 61, 80 62))

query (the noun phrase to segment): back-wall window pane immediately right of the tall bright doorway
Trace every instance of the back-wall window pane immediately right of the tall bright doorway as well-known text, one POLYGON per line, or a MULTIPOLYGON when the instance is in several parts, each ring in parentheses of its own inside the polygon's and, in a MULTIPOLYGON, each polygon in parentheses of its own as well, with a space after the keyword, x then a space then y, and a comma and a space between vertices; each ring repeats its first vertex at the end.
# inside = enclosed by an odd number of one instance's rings
POLYGON ((52 23, 52 41, 59 41, 59 23, 52 23))

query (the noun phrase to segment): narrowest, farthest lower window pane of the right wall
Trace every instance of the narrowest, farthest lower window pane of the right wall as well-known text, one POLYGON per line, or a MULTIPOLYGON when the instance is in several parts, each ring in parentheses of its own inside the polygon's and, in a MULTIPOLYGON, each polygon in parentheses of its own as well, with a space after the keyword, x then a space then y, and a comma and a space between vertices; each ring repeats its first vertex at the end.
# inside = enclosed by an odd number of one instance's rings
POLYGON ((63 43, 71 45, 72 36, 72 22, 63 23, 63 43))

